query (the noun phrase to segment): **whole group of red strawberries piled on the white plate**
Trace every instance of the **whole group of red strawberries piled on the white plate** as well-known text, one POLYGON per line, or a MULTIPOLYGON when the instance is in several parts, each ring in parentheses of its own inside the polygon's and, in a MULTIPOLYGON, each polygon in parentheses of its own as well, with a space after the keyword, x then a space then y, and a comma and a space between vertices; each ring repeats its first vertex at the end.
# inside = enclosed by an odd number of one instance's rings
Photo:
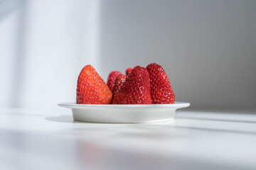
POLYGON ((171 104, 175 101, 170 81, 159 64, 111 72, 107 84, 91 65, 79 74, 78 104, 171 104))

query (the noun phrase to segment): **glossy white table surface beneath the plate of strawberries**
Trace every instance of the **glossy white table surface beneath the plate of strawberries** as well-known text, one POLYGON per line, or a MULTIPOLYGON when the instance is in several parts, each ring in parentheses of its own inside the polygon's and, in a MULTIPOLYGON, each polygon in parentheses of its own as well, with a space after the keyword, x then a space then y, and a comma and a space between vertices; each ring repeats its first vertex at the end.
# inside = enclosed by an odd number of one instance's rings
POLYGON ((256 169, 256 112, 186 111, 166 123, 0 110, 0 169, 256 169))

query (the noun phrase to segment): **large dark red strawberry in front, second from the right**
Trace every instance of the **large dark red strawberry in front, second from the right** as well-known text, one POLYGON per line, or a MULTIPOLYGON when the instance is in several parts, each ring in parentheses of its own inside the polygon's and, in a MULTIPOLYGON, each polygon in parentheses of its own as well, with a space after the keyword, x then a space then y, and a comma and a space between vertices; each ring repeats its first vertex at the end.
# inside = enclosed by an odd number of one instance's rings
POLYGON ((113 104, 151 104, 149 72, 134 67, 114 94, 113 104))

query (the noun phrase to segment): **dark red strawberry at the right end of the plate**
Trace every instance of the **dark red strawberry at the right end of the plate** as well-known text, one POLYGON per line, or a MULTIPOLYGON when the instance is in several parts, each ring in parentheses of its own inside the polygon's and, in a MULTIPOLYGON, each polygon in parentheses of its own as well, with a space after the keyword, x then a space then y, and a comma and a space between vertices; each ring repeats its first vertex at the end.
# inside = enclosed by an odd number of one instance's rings
POLYGON ((149 64, 151 98, 153 104, 172 104, 175 101, 174 91, 164 69, 156 63, 149 64))

